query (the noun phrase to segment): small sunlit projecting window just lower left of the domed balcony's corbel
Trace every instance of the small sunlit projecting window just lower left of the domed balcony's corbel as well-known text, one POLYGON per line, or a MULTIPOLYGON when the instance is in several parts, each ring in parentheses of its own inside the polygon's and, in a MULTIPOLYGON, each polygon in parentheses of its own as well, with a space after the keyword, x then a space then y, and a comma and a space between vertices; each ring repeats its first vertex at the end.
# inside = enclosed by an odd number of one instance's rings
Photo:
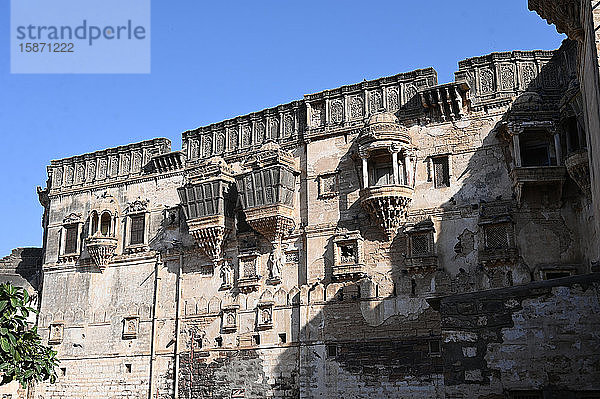
POLYGON ((337 233, 333 237, 334 280, 356 280, 366 276, 363 238, 359 231, 337 233))

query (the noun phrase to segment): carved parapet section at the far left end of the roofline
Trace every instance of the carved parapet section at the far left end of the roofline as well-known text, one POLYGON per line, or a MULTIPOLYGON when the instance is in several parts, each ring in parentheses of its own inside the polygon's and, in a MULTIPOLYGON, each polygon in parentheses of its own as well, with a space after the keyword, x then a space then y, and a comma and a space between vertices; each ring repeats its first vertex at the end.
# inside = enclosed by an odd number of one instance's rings
POLYGON ((50 194, 142 176, 150 159, 170 150, 171 142, 158 138, 53 160, 48 166, 50 194))

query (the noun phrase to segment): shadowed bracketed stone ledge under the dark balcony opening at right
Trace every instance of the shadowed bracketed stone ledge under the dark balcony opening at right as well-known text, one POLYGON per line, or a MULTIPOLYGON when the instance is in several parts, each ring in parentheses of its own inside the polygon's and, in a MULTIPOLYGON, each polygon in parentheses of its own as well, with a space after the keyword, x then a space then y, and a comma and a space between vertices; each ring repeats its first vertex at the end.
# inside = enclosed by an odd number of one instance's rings
POLYGON ((562 187, 567 177, 564 166, 523 166, 515 167, 510 172, 517 203, 521 205, 523 190, 530 187, 551 187, 557 194, 557 201, 562 196, 562 187))

